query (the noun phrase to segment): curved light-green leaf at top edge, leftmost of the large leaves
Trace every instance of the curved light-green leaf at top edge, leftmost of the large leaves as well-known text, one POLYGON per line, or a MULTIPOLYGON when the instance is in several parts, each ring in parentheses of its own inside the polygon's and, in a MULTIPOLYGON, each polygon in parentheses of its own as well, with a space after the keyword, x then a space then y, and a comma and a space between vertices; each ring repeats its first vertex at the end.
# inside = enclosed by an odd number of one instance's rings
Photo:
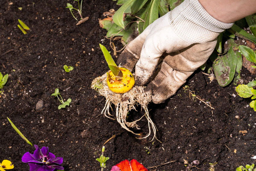
POLYGON ((120 26, 124 29, 123 24, 123 13, 126 11, 128 7, 133 3, 135 0, 128 0, 126 1, 114 14, 113 21, 117 24, 117 26, 120 26))

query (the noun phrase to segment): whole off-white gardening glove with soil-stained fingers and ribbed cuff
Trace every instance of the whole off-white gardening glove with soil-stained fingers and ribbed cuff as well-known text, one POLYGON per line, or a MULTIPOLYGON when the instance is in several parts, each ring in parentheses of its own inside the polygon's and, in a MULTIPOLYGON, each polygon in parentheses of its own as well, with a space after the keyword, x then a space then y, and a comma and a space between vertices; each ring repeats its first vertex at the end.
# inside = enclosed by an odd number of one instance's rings
POLYGON ((212 17, 198 0, 185 0, 131 41, 117 64, 130 71, 136 65, 136 85, 151 79, 146 90, 154 103, 162 103, 207 61, 217 36, 232 25, 212 17))

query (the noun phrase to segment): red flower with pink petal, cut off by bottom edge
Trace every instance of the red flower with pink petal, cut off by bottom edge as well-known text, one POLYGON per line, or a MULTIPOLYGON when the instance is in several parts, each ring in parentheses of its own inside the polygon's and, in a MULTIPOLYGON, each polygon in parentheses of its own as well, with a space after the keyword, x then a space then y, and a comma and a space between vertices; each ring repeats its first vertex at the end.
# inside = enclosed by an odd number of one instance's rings
POLYGON ((130 162, 128 160, 121 161, 116 166, 113 166, 111 171, 148 171, 148 170, 138 161, 133 159, 130 162))

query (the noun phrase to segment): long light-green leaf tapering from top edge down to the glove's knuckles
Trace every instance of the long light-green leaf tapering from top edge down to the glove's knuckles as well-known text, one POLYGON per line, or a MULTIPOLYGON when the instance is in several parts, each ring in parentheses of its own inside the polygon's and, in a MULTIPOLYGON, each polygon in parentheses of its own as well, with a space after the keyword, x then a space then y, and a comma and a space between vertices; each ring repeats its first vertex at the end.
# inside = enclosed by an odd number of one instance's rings
POLYGON ((146 14, 145 22, 143 29, 145 30, 152 22, 154 22, 156 19, 158 19, 158 6, 159 6, 160 0, 152 0, 149 10, 146 14))

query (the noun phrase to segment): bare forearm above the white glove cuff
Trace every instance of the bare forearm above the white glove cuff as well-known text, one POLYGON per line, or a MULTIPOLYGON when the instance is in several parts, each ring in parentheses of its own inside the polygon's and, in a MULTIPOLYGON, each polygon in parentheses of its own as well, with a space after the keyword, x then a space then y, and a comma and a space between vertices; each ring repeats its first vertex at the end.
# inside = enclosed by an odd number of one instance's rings
POLYGON ((198 0, 214 18, 230 23, 256 13, 256 0, 198 0))

